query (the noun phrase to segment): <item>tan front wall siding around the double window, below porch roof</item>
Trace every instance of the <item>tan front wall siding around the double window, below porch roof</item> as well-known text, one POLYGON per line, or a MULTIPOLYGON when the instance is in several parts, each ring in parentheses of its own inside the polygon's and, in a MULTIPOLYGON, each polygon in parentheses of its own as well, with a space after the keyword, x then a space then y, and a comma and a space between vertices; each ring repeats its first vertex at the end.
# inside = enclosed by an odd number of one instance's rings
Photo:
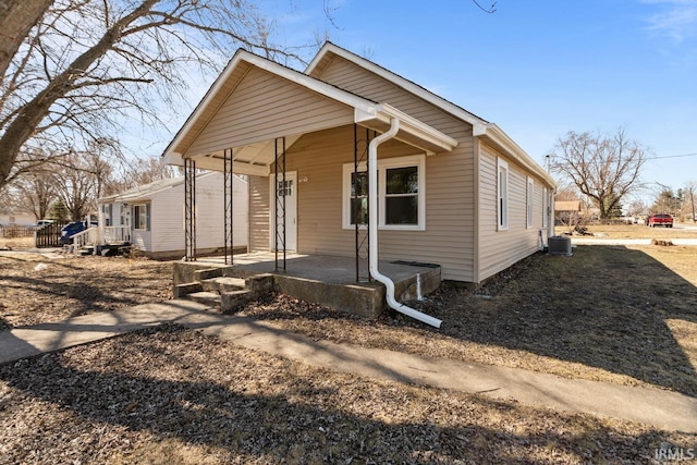
MULTIPOLYGON (((380 259, 439 264, 443 278, 473 280, 472 172, 466 146, 454 154, 426 157, 426 231, 379 231, 380 259)), ((418 150, 391 140, 379 158, 417 155, 418 150)), ((289 150, 286 170, 297 171, 298 252, 354 255, 354 231, 342 228, 343 164, 353 162, 353 126, 303 136, 289 150)), ((254 195, 253 195, 254 198, 254 195)))

